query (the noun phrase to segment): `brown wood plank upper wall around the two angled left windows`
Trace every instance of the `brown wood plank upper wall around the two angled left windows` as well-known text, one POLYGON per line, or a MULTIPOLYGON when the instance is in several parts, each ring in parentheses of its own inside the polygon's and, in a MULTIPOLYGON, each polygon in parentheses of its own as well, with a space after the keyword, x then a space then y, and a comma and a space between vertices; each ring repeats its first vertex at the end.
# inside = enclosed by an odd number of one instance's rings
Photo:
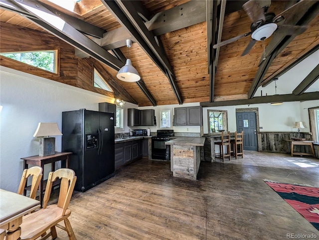
POLYGON ((99 93, 111 98, 120 98, 136 103, 132 96, 109 74, 102 63, 94 58, 80 59, 74 47, 47 32, 40 32, 9 23, 0 25, 0 52, 58 50, 59 71, 57 74, 0 56, 1 66, 44 77, 60 83, 99 93), (94 67, 107 81, 114 92, 93 86, 94 67))

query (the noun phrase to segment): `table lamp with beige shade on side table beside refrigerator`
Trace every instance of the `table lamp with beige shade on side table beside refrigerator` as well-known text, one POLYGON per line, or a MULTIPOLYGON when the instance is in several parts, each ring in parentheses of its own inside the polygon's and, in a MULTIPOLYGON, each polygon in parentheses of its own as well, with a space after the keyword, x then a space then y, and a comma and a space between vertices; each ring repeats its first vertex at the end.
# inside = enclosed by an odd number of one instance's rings
POLYGON ((62 135, 56 122, 39 122, 33 136, 40 138, 39 156, 48 156, 55 154, 55 137, 62 135))

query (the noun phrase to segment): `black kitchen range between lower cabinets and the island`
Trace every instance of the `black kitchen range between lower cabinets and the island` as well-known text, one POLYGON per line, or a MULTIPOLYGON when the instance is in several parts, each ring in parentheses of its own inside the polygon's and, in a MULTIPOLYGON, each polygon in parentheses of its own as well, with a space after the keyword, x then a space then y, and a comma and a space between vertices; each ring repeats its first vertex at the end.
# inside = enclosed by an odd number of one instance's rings
POLYGON ((170 146, 165 145, 174 136, 174 130, 158 130, 157 136, 152 137, 152 159, 170 161, 170 146))

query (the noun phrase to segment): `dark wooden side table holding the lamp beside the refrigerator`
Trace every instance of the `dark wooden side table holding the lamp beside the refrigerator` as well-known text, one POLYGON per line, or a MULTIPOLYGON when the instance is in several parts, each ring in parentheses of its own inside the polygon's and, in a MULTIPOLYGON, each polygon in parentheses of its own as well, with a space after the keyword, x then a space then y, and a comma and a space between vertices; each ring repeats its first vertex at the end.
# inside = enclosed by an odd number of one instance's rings
MULTIPOLYGON (((55 152, 54 155, 49 155, 49 156, 43 156, 40 157, 39 155, 35 155, 35 156, 30 156, 30 157, 21 157, 21 159, 23 159, 23 168, 26 169, 28 168, 29 164, 32 165, 36 165, 39 167, 42 167, 42 169, 44 170, 44 165, 51 163, 51 171, 54 172, 55 171, 55 162, 57 161, 61 161, 61 160, 65 160, 65 166, 66 168, 69 167, 69 161, 70 161, 70 155, 72 154, 72 152, 55 152)), ((43 193, 45 191, 45 186, 46 184, 44 184, 43 180, 44 176, 41 179, 40 182, 40 186, 39 186, 39 190, 40 190, 40 195, 39 195, 39 201, 42 207, 42 203, 43 203, 43 193)), ((24 189, 24 195, 26 193, 27 188, 24 189)))

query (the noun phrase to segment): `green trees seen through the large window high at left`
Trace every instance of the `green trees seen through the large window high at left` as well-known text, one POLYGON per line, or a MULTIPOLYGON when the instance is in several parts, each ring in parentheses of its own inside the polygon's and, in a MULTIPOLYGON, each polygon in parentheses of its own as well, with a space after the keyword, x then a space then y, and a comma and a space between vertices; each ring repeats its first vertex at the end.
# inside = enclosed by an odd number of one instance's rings
POLYGON ((56 50, 1 53, 2 56, 56 73, 56 50))

